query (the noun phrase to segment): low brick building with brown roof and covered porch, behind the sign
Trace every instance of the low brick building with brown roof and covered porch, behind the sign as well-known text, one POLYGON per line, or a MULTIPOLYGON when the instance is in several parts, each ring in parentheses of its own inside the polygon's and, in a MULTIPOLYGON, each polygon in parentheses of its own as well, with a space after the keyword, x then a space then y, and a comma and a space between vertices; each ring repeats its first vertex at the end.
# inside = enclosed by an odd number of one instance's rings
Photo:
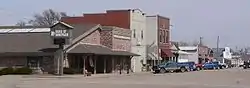
MULTIPOLYGON (((130 52, 130 30, 115 32, 120 28, 96 24, 71 26, 74 27, 72 40, 64 48, 64 62, 68 63, 65 67, 73 68, 78 73, 84 70, 94 74, 114 73, 119 69, 124 72, 130 68, 132 56, 137 56, 130 52), (112 31, 111 34, 102 33, 107 28, 112 31), (111 38, 113 42, 103 41, 104 37, 111 38)), ((58 46, 51 41, 49 27, 0 27, 0 41, 0 67, 43 68, 43 72, 58 72, 60 54, 58 46)))

